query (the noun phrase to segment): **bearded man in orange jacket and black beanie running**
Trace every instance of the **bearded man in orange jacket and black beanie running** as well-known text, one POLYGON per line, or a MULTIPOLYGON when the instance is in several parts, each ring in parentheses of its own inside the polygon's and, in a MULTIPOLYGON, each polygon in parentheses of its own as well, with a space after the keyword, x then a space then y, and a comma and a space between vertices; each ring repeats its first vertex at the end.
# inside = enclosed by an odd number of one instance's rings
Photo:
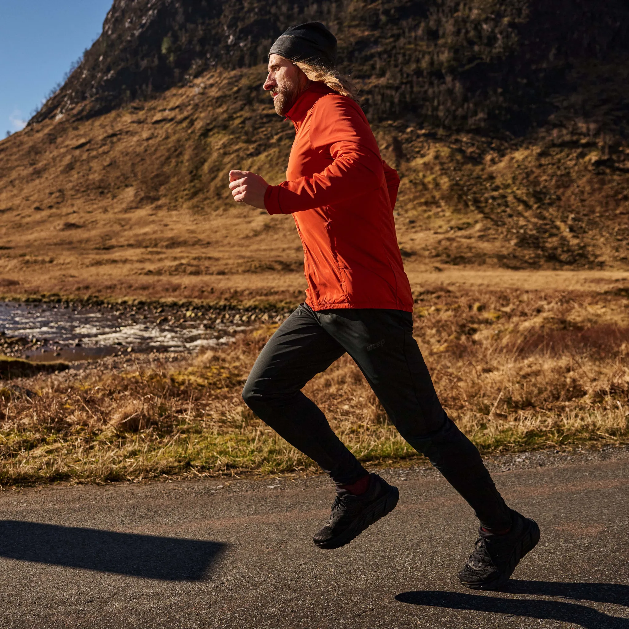
POLYGON ((293 215, 308 281, 305 303, 265 345, 243 399, 336 483, 330 519, 313 541, 341 547, 398 503, 398 488, 369 474, 301 392, 347 352, 402 437, 476 512, 479 539, 460 581, 496 589, 540 531, 506 506, 478 450, 437 398, 413 338, 413 298, 393 220, 399 177, 382 160, 352 85, 335 71, 336 57, 337 40, 319 22, 277 39, 264 89, 295 126, 287 181, 269 186, 252 172, 230 172, 235 201, 293 215))

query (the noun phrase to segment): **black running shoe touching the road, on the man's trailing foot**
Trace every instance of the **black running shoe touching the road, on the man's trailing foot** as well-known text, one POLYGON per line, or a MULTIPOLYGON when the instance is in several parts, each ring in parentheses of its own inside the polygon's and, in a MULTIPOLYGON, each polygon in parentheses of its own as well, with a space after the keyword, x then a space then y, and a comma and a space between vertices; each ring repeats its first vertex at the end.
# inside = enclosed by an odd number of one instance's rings
POLYGON ((493 535, 479 528, 476 548, 470 555, 459 581, 470 589, 495 590, 504 586, 520 559, 540 541, 540 527, 511 509, 511 530, 493 535))

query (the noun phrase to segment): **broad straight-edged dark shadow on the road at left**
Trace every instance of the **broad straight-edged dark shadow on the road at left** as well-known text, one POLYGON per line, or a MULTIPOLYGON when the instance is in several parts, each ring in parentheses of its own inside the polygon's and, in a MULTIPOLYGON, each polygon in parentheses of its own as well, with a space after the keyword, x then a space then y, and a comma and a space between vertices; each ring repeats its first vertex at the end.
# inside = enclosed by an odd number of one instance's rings
POLYGON ((0 520, 0 557, 165 581, 200 581, 219 542, 0 520))

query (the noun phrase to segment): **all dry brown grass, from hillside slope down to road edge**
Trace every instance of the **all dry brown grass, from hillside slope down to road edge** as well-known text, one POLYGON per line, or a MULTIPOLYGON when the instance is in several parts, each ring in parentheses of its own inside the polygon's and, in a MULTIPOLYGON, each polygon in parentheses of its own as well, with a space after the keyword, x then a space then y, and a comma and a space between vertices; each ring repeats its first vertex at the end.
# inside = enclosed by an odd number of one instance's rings
MULTIPOLYGON (((263 77, 208 72, 0 142, 0 297, 301 301, 291 217, 235 206, 225 186, 233 167, 283 179, 293 131, 255 96, 263 77)), ((374 132, 402 175, 416 336, 448 413, 484 452, 626 440, 625 140, 579 120, 513 142, 374 132)), ((240 401, 263 342, 11 382, 1 482, 311 469, 240 401)), ((307 390, 363 460, 416 456, 350 360, 307 390)))

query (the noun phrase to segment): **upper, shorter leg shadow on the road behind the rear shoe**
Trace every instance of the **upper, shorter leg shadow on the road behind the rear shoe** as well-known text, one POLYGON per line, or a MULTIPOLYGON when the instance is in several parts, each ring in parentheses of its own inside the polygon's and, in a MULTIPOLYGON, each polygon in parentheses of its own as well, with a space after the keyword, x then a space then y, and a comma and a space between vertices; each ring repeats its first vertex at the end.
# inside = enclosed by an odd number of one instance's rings
POLYGON ((509 594, 542 594, 575 601, 629 606, 629 586, 620 583, 561 583, 511 579, 503 591, 509 594))

